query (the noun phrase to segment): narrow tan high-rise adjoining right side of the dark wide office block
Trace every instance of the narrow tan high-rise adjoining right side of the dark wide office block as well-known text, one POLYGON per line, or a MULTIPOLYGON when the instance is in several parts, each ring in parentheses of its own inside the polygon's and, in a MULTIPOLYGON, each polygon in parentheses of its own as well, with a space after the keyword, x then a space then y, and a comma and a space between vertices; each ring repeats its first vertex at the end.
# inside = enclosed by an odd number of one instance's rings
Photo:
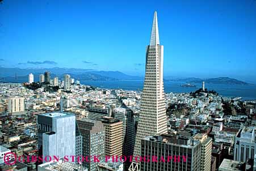
POLYGON ((211 171, 212 139, 207 134, 196 134, 194 140, 198 140, 201 147, 201 171, 211 171))

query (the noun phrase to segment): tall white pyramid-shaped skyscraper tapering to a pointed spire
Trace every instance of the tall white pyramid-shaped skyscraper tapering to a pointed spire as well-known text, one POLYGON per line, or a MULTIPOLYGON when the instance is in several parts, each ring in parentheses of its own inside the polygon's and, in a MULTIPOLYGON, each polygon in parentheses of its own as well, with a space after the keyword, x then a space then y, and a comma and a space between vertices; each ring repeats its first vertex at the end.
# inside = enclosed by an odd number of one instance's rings
MULTIPOLYGON (((154 12, 150 45, 146 46, 146 70, 141 95, 140 119, 137 127, 134 155, 140 155, 141 139, 149 135, 167 134, 167 117, 163 92, 163 46, 158 34, 157 12, 154 12)), ((139 163, 130 166, 138 170, 139 163)))

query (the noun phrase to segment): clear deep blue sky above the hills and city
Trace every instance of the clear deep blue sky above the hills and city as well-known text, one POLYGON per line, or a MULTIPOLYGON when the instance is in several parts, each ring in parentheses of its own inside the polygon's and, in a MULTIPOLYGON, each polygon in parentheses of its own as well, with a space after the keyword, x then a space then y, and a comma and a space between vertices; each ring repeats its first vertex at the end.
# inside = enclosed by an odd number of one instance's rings
POLYGON ((165 76, 256 79, 256 1, 2 1, 0 66, 143 75, 158 12, 165 76))

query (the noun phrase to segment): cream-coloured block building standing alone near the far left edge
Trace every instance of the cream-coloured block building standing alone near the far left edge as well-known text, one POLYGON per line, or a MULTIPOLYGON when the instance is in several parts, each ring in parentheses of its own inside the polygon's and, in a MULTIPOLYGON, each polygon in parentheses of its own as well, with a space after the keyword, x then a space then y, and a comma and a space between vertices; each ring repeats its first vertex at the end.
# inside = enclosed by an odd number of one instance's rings
POLYGON ((9 113, 24 112, 24 98, 12 97, 8 99, 9 113))

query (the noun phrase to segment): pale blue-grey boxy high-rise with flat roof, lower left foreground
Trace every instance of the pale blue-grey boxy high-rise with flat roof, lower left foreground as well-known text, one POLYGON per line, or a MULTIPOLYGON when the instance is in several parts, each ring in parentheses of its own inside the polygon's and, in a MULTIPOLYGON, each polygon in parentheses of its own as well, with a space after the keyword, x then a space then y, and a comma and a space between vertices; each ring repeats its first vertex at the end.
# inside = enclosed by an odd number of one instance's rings
POLYGON ((75 155, 75 116, 44 113, 37 116, 39 155, 75 155))

